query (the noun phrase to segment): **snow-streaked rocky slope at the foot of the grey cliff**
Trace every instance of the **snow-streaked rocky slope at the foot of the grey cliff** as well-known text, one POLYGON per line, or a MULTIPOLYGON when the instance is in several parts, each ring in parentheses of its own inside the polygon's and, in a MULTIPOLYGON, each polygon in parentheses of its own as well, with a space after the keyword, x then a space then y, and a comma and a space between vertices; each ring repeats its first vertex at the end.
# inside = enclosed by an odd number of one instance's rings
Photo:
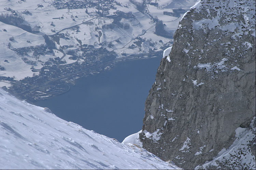
MULTIPOLYGON (((197 152, 198 153, 198 152, 197 152)), ((197 153, 195 155, 197 155, 197 153)), ((201 154, 201 152, 199 153, 201 154)), ((223 148, 213 160, 195 169, 255 169, 255 117, 249 128, 237 128, 236 140, 223 148), (254 144, 253 144, 254 143, 254 144)))

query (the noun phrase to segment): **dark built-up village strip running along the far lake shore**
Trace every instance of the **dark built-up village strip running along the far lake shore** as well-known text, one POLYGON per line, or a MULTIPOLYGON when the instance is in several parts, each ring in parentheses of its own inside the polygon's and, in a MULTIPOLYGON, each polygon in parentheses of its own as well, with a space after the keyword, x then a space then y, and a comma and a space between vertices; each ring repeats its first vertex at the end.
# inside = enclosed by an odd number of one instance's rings
MULTIPOLYGON (((44 100, 46 98, 61 95, 75 85, 75 80, 89 75, 98 74, 100 72, 109 71, 115 63, 150 58, 161 55, 162 51, 151 54, 131 55, 128 57, 110 59, 108 56, 102 56, 102 60, 87 60, 82 64, 73 63, 67 65, 45 65, 39 71, 39 75, 27 77, 20 81, 11 80, 13 86, 6 91, 26 101, 44 100)), ((0 77, 1 79, 1 77, 0 77)), ((9 78, 11 79, 11 78, 9 78)))

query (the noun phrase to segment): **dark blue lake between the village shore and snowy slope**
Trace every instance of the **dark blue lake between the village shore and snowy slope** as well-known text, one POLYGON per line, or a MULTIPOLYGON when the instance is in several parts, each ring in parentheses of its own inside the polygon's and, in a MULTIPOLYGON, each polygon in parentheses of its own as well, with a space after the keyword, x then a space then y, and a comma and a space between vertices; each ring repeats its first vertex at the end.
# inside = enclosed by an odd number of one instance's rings
POLYGON ((38 101, 58 117, 85 129, 123 139, 142 129, 144 103, 161 57, 116 64, 109 72, 77 79, 60 96, 38 101))

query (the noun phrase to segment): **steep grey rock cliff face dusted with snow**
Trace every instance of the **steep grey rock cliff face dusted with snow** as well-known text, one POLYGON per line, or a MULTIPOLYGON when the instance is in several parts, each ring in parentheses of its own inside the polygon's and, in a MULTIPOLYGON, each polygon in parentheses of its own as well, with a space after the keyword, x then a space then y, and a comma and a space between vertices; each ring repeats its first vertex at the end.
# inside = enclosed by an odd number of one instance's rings
POLYGON ((199 1, 174 41, 145 102, 143 148, 185 169, 255 167, 255 1, 199 1), (233 156, 239 165, 203 167, 234 144, 239 128, 252 134, 244 147, 252 164, 241 164, 241 151, 233 156))

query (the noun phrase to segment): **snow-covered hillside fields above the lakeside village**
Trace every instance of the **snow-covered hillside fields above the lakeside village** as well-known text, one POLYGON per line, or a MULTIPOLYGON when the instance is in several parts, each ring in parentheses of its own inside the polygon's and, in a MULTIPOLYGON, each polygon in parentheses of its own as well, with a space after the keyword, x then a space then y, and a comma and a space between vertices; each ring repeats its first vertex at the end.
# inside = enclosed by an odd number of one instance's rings
MULTIPOLYGON (((33 31, 39 31, 39 33, 27 32, 17 26, 0 21, 0 68, 4 68, 0 69, 0 76, 14 77, 15 80, 21 80, 27 76, 32 77, 32 65, 35 69, 40 69, 46 61, 57 57, 58 53, 55 53, 56 55, 54 53, 34 55, 33 51, 31 51, 30 53, 22 53, 22 56, 18 55, 14 50, 30 46, 46 46, 43 35, 54 35, 57 32, 65 37, 60 37, 58 40, 54 39, 53 36, 49 36, 49 38, 53 38, 56 49, 72 45, 73 47, 71 48, 79 51, 81 50, 79 47, 81 43, 93 45, 94 48, 104 47, 109 51, 115 51, 118 57, 123 57, 124 55, 121 54, 126 54, 127 56, 148 53, 152 52, 152 50, 159 51, 162 50, 162 47, 170 47, 173 39, 154 33, 156 22, 153 21, 152 17, 162 20, 163 24, 165 24, 165 30, 173 33, 183 15, 174 17, 163 15, 163 12, 173 12, 172 9, 177 8, 187 10, 196 1, 152 0, 153 3, 158 3, 158 5, 148 2, 145 12, 141 13, 137 6, 129 0, 117 0, 116 3, 109 0, 111 4, 108 5, 99 2, 100 6, 106 6, 105 9, 108 8, 103 16, 99 16, 97 14, 98 10, 94 5, 87 5, 83 8, 57 8, 54 6, 54 3, 70 3, 71 1, 69 0, 0 0, 0 15, 23 17, 24 22, 22 24, 30 26, 33 31), (110 7, 110 5, 114 7, 110 7), (88 11, 87 13, 86 10, 88 11), (121 24, 129 24, 129 28, 105 28, 104 26, 114 21, 113 18, 108 18, 107 15, 114 15, 118 11, 130 12, 134 16, 120 20, 121 24), (99 32, 102 33, 101 36, 99 32), (10 39, 12 37, 13 39, 10 39), (141 39, 139 40, 138 38, 141 39), (138 45, 138 41, 142 41, 141 45, 138 45), (8 60, 8 62, 4 62, 5 60, 8 60)), ((93 2, 98 3, 97 0, 93 2)), ((67 50, 70 50, 70 48, 67 50)), ((66 64, 75 62, 69 60, 67 56, 62 60, 65 60, 66 64)), ((0 87, 2 86, 8 87, 11 84, 8 81, 0 81, 0 87)))

